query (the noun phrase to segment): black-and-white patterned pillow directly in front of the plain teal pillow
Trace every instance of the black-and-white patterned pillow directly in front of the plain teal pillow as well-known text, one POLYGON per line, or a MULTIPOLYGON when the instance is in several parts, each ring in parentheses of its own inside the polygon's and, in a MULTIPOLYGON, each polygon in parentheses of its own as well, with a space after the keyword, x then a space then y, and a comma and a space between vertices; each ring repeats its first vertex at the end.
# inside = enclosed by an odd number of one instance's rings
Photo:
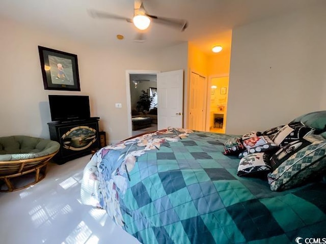
POLYGON ((294 122, 288 125, 285 125, 272 140, 280 146, 289 144, 292 141, 296 141, 305 136, 314 134, 315 129, 312 127, 307 127, 301 122, 294 122))

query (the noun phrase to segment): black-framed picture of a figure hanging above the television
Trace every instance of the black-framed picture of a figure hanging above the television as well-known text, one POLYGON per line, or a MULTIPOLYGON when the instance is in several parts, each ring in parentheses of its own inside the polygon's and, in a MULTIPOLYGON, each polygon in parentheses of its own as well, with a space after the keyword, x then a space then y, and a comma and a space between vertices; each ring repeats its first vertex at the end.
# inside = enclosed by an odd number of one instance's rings
POLYGON ((80 90, 77 55, 38 47, 44 89, 80 90))

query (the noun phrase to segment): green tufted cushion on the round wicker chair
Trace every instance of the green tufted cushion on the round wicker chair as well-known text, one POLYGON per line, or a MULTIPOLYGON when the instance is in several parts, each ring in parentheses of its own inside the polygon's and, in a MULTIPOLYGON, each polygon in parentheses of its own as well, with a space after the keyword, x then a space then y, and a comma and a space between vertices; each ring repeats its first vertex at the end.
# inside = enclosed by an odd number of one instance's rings
POLYGON ((0 161, 34 159, 55 153, 60 143, 31 136, 0 137, 0 161))

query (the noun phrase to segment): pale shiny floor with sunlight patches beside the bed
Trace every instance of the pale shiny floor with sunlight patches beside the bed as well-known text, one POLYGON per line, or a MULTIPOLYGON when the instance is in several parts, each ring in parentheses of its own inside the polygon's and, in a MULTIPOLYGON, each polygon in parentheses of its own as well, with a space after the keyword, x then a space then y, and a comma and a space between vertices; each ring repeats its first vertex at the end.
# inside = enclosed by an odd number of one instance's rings
POLYGON ((46 177, 33 187, 0 193, 0 243, 139 243, 105 210, 80 203, 80 181, 89 159, 50 163, 46 177))

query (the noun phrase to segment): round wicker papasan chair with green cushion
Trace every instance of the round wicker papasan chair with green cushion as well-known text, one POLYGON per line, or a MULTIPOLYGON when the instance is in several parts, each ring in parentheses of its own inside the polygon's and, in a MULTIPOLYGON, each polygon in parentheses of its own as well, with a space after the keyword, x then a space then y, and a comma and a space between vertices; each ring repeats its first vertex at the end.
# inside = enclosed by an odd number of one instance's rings
POLYGON ((36 184, 47 173, 48 161, 60 148, 57 141, 31 136, 0 137, 0 192, 36 184), (34 174, 34 181, 31 176, 34 174))

